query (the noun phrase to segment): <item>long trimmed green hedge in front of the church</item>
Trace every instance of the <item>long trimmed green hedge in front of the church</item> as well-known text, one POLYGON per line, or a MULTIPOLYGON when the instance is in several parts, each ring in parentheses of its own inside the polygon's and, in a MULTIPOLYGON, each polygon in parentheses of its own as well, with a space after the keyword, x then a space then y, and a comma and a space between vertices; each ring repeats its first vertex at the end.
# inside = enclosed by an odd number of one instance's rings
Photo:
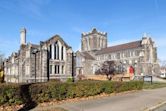
POLYGON ((88 97, 101 93, 111 94, 129 90, 140 90, 141 81, 78 81, 76 83, 47 82, 36 84, 0 84, 0 105, 24 104, 64 100, 76 97, 88 97))

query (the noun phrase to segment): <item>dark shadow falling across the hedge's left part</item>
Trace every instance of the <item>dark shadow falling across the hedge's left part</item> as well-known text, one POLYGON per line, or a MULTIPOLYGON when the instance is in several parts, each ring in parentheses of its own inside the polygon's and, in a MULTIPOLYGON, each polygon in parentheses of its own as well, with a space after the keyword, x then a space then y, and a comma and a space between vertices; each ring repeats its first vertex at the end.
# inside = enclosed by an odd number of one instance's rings
POLYGON ((32 100, 30 92, 29 92, 29 86, 31 84, 25 84, 20 86, 20 95, 23 100, 24 106, 19 109, 18 111, 29 111, 30 109, 33 109, 37 106, 37 103, 32 100))

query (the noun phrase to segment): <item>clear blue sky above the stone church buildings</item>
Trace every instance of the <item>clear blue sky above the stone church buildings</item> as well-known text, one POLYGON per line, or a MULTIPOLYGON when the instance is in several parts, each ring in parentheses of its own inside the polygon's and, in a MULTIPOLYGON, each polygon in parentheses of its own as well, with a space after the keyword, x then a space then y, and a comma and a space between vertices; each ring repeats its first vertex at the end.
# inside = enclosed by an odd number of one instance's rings
POLYGON ((27 42, 39 43, 59 34, 73 50, 82 32, 107 32, 109 45, 139 40, 144 32, 155 40, 158 58, 166 60, 166 0, 0 0, 0 52, 19 49, 20 29, 27 42))

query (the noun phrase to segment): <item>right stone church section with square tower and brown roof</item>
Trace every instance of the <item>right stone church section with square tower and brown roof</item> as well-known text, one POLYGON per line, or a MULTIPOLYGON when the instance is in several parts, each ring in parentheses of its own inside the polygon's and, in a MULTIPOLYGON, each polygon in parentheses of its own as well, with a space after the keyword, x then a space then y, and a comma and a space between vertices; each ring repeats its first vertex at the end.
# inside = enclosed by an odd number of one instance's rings
POLYGON ((116 46, 108 46, 107 33, 92 29, 82 33, 81 50, 76 52, 76 74, 91 76, 99 70, 104 61, 119 63, 127 73, 132 66, 137 75, 158 73, 157 48, 146 34, 141 40, 116 46))

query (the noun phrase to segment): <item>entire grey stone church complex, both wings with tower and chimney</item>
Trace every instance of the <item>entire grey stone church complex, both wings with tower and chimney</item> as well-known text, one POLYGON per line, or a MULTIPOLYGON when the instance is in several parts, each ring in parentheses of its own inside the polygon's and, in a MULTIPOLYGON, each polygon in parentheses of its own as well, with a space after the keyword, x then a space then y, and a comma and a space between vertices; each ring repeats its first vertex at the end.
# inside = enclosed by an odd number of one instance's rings
POLYGON ((137 75, 158 73, 157 48, 146 34, 142 39, 108 46, 107 33, 92 29, 82 33, 81 50, 72 48, 55 35, 40 44, 26 43, 26 29, 20 31, 20 49, 4 62, 6 82, 32 83, 50 79, 66 80, 72 74, 93 76, 104 61, 115 61, 127 72, 132 66, 137 75), (75 56, 74 56, 75 55, 75 56))

